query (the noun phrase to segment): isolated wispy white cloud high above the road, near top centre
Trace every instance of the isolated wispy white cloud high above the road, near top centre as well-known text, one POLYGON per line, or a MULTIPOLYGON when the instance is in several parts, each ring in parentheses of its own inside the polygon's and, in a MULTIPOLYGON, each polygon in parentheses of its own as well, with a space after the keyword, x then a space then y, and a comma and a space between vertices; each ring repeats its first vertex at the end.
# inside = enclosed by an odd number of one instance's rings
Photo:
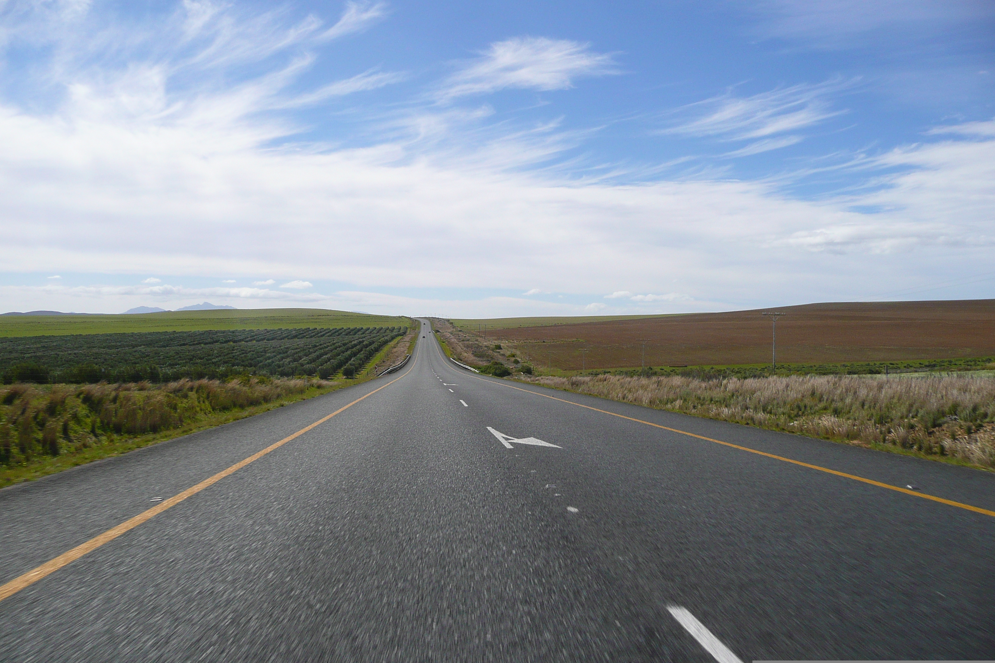
POLYGON ((567 89, 582 76, 613 74, 612 56, 589 45, 544 37, 516 37, 495 42, 482 57, 454 74, 439 96, 453 98, 519 89, 567 89))

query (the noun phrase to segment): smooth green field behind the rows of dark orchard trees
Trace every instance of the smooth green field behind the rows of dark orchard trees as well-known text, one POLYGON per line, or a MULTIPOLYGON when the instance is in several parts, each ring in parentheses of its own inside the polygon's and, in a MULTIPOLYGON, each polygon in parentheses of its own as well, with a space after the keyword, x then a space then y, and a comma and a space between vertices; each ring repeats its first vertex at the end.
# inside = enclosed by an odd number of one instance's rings
POLYGON ((410 324, 413 324, 411 320, 403 316, 367 315, 322 308, 170 311, 131 315, 2 315, 0 338, 205 329, 407 327, 410 324))

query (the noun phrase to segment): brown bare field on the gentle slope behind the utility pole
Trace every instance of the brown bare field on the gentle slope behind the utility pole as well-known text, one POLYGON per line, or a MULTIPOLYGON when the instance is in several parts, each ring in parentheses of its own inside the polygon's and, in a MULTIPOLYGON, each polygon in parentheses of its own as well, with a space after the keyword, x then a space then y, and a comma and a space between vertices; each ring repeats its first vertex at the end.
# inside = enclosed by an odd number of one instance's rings
MULTIPOLYGON (((769 363, 777 322, 777 362, 844 363, 963 359, 995 355, 995 299, 842 302, 776 309, 692 313, 489 329, 536 366, 566 371, 641 366, 728 366, 769 363), (580 350, 588 348, 582 358, 580 350)), ((492 342, 494 342, 492 341, 492 342)))

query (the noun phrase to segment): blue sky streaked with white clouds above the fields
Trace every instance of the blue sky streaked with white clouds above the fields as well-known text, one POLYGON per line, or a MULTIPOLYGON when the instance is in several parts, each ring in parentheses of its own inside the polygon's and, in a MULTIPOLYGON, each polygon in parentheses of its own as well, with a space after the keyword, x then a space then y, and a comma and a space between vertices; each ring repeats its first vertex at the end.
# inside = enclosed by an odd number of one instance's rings
POLYGON ((989 298, 990 2, 0 0, 0 309, 989 298))

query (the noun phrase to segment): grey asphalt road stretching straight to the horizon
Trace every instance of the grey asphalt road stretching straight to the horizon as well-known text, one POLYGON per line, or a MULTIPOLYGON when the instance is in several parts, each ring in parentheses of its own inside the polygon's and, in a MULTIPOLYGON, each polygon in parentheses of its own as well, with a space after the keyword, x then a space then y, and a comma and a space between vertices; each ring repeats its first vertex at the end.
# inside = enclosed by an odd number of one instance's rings
POLYGON ((995 517, 607 413, 987 510, 995 475, 476 376, 425 335, 398 374, 0 491, 7 582, 370 394, 0 600, 0 659, 995 656, 995 517))

